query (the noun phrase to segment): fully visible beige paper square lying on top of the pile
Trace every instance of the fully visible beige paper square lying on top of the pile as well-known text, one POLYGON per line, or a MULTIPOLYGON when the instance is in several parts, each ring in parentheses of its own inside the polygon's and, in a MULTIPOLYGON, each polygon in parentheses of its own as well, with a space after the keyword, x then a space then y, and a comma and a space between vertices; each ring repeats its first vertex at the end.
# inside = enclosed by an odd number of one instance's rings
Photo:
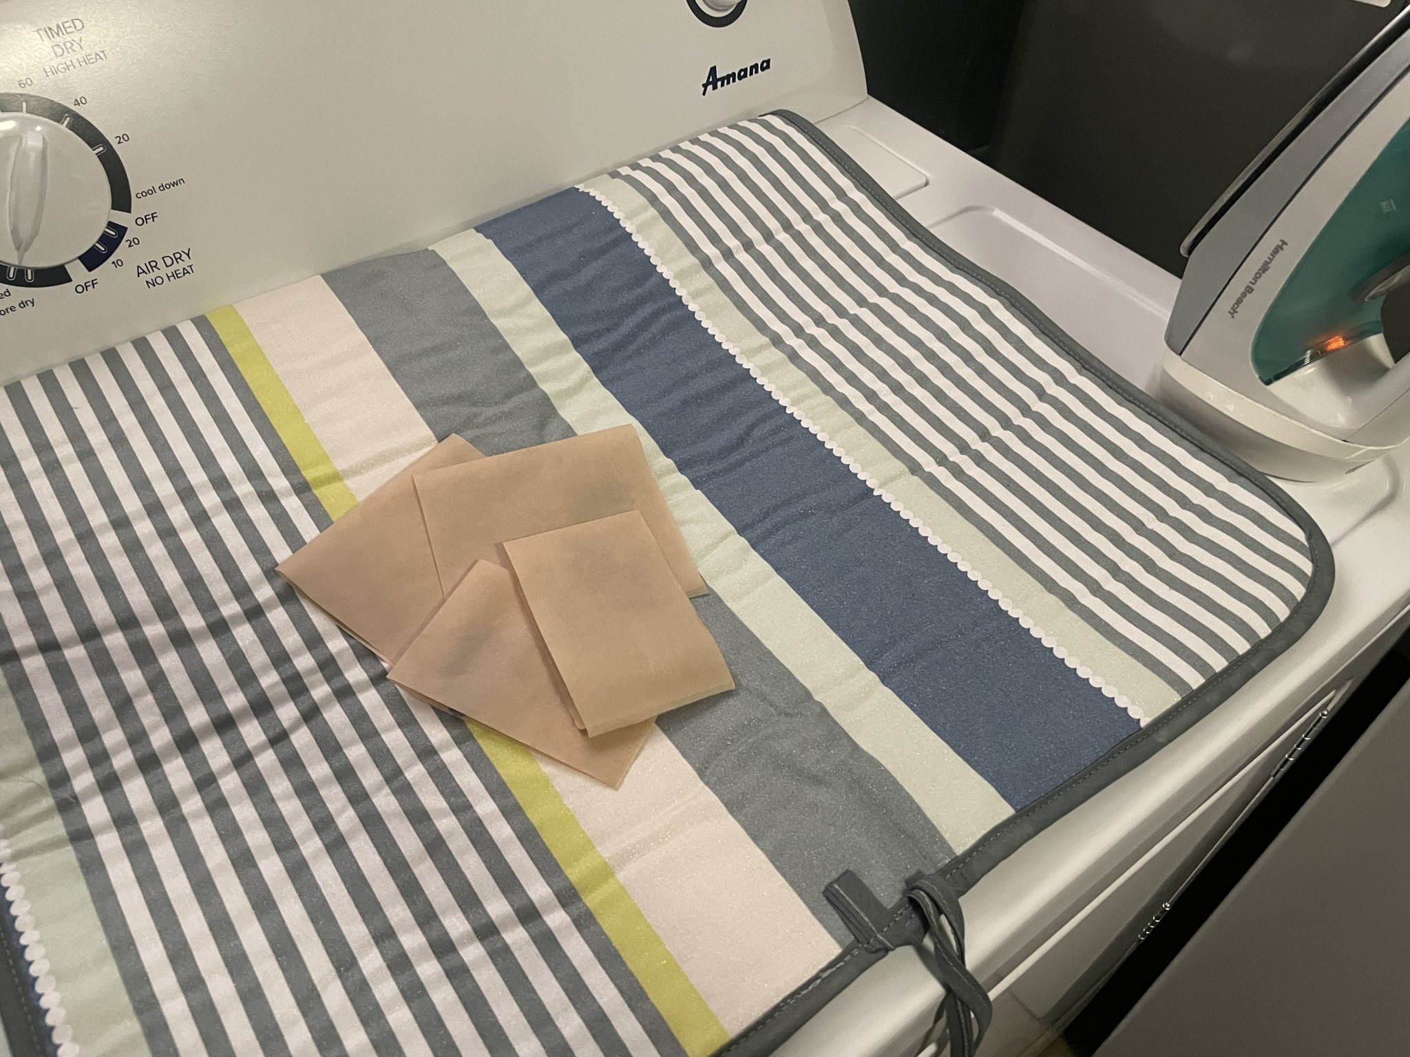
POLYGON ((588 734, 735 688, 636 510, 512 540, 505 552, 588 734))

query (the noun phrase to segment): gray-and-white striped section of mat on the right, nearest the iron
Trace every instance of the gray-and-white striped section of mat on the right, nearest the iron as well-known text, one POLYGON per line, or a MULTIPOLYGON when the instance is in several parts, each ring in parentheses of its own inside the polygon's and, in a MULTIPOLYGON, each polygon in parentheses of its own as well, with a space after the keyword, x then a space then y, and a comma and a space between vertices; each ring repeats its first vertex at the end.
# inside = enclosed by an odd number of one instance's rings
POLYGON ((966 262, 916 247, 792 121, 615 173, 818 386, 1093 627, 1182 692, 1303 596, 1303 530, 1152 431, 966 262))

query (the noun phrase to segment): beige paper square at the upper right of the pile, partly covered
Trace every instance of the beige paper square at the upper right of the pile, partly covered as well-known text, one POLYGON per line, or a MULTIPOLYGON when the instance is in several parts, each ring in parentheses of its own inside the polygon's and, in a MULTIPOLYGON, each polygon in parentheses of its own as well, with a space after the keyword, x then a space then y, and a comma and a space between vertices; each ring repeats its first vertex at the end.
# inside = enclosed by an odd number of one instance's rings
POLYGON ((502 564, 506 540, 627 510, 640 510, 685 593, 706 591, 632 426, 417 474, 416 492, 447 593, 477 561, 502 564))

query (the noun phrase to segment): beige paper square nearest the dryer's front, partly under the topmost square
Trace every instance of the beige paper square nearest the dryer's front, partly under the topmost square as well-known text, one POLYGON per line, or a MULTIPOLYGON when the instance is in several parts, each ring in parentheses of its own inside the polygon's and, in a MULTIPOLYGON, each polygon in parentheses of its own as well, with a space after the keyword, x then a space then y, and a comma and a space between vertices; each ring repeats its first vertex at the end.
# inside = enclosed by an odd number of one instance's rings
MULTIPOLYGON (((671 588, 685 602, 674 579, 671 588)), ((647 720, 589 738, 574 726, 513 575, 488 561, 465 574, 388 676, 613 788, 651 729, 647 720)))

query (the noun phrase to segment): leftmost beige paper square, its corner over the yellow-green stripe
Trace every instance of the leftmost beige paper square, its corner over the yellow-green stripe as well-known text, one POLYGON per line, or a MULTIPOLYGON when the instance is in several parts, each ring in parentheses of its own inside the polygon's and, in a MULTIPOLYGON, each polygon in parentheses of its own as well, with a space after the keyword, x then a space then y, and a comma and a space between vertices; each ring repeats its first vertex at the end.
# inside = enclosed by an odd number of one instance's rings
POLYGON ((395 661, 448 593, 413 476, 481 458, 470 441, 447 437, 285 558, 279 572, 372 653, 395 661))

